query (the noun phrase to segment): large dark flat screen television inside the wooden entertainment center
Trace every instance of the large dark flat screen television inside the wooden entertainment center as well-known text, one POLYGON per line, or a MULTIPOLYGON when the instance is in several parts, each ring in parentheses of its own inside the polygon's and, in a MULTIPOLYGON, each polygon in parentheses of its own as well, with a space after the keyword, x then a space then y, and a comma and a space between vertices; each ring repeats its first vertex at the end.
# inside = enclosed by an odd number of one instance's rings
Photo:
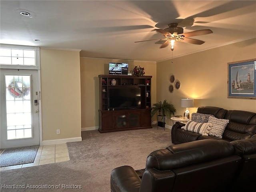
POLYGON ((116 88, 108 90, 108 107, 110 109, 140 108, 140 88, 116 88))

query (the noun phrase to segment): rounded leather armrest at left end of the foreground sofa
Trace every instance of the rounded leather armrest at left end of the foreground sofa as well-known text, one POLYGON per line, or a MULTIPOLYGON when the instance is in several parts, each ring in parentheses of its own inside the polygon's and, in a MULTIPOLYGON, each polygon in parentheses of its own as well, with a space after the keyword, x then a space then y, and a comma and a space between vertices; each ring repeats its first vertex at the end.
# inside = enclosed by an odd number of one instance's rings
POLYGON ((111 172, 111 192, 139 192, 140 182, 140 177, 130 166, 121 166, 111 172))

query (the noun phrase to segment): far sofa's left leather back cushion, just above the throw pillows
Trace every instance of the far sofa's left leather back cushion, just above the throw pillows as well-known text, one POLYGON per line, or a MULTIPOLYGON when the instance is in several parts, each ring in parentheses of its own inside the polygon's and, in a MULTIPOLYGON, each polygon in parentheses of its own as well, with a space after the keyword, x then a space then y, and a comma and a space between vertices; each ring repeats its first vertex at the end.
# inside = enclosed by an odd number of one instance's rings
POLYGON ((198 107, 197 112, 202 114, 210 114, 215 116, 216 118, 223 119, 228 110, 220 108, 220 107, 212 107, 212 106, 201 106, 198 107))

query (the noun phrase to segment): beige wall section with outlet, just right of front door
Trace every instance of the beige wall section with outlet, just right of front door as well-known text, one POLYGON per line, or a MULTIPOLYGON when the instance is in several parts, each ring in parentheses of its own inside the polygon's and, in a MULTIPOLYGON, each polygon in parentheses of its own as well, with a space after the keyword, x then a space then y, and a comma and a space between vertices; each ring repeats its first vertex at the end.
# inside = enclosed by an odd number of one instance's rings
POLYGON ((81 137, 79 52, 41 48, 40 65, 42 140, 81 137))

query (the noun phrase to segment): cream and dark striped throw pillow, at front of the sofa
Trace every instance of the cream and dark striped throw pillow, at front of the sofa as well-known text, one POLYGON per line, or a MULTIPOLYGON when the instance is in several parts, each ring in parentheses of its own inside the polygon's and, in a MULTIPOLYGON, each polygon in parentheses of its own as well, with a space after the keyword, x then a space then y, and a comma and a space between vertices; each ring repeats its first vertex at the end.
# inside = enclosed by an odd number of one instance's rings
POLYGON ((182 129, 208 136, 210 129, 209 125, 210 123, 198 123, 192 120, 188 120, 188 122, 185 126, 182 127, 182 129))

